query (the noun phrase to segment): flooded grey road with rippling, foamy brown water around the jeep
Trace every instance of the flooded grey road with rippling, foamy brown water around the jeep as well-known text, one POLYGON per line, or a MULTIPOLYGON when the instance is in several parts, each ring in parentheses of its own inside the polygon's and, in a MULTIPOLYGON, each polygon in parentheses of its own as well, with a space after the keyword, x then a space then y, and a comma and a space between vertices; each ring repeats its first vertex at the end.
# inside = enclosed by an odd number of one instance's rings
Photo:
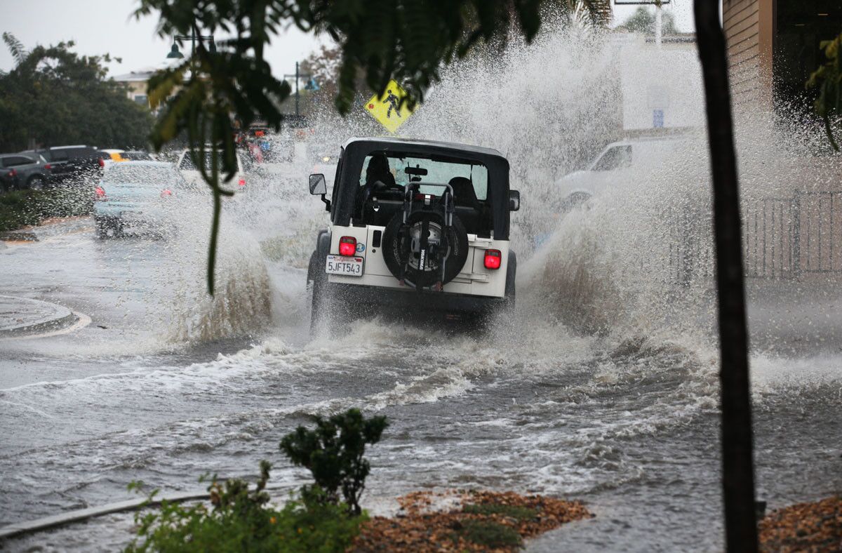
MULTIPOLYGON (((362 407, 392 421, 371 450, 371 503, 429 487, 543 492, 581 498, 597 517, 530 549, 721 548, 708 331, 574 332, 541 306, 526 269, 516 319, 488 335, 370 321, 310 338, 301 254, 290 253, 306 246, 228 236, 237 247, 223 245, 213 301, 189 239, 98 241, 82 229, 0 250, 0 294, 92 319, 0 343, 0 524, 125 499, 132 480, 200 490, 205 472, 250 476, 261 459, 273 482, 295 484, 306 474, 281 457, 280 438, 307 414, 362 407)), ((774 342, 782 326, 763 309, 766 338, 755 338, 774 342)), ((753 355, 770 508, 842 486, 842 358, 822 344, 753 355)), ((115 515, 9 546, 113 550, 128 529, 115 515)))

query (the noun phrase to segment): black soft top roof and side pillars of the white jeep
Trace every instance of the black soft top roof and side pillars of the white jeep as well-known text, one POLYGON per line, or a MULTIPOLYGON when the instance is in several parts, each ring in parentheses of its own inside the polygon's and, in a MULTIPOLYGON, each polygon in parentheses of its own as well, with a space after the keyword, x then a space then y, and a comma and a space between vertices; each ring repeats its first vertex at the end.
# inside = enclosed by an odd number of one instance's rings
POLYGON ((343 150, 338 178, 333 183, 331 217, 334 225, 349 225, 365 157, 373 152, 397 152, 419 157, 449 157, 484 165, 488 169, 486 202, 491 205, 494 237, 509 239, 509 162, 497 150, 455 142, 386 137, 351 138, 345 142, 343 150))

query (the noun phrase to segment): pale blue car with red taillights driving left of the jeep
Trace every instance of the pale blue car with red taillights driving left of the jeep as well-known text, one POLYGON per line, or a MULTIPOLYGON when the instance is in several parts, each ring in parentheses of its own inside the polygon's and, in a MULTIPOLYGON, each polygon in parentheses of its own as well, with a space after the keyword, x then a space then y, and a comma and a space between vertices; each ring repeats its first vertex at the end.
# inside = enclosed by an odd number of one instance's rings
POLYGON ((173 163, 109 163, 94 189, 97 237, 117 237, 127 231, 163 234, 168 228, 168 208, 198 193, 173 163))

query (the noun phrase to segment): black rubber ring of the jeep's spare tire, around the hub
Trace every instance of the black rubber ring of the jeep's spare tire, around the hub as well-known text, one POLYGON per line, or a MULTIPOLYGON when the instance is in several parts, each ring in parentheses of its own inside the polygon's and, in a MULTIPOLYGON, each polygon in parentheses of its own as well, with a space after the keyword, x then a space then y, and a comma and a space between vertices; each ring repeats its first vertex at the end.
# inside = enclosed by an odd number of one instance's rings
MULTIPOLYGON (((409 215, 407 223, 413 226, 416 223, 428 219, 430 222, 436 223, 442 228, 445 227, 445 216, 438 211, 414 211, 409 215)), ((392 219, 386 225, 386 230, 383 231, 383 258, 386 261, 386 267, 398 279, 401 278, 401 267, 403 265, 401 260, 401 239, 398 231, 403 223, 403 212, 398 211, 392 216, 392 219)), ((468 234, 465 226, 460 221, 459 217, 453 215, 450 229, 445 231, 445 236, 450 247, 450 253, 445 258, 445 279, 441 284, 447 284, 450 280, 456 278, 456 275, 465 266, 468 258, 468 234)), ((428 288, 439 281, 439 270, 434 271, 419 271, 410 265, 407 265, 404 277, 408 284, 418 288, 428 288)))

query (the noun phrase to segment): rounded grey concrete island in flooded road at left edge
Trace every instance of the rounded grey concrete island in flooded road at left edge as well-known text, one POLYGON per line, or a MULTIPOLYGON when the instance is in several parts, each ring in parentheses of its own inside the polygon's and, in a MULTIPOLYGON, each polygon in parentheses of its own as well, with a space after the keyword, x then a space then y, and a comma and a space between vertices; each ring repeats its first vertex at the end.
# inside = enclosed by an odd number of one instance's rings
POLYGON ((61 330, 78 317, 67 307, 40 300, 0 295, 0 338, 17 338, 61 330))

